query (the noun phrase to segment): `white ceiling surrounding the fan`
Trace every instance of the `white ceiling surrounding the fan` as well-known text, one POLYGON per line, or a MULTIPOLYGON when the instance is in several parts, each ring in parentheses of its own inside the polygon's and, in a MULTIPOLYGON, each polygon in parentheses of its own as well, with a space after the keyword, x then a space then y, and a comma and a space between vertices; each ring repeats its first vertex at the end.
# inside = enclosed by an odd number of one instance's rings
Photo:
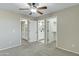
MULTIPOLYGON (((39 6, 47 6, 46 10, 41 10, 41 12, 43 12, 44 14, 57 12, 59 10, 62 10, 64 8, 68 8, 68 7, 74 6, 74 5, 78 5, 78 3, 39 3, 39 6)), ((28 6, 26 6, 26 3, 0 3, 1 10, 12 11, 12 12, 16 12, 19 14, 30 16, 29 15, 30 11, 29 10, 21 11, 21 10, 19 10, 19 8, 21 8, 21 7, 29 8, 28 6)), ((34 13, 31 16, 37 17, 37 16, 41 16, 41 15, 34 13)))

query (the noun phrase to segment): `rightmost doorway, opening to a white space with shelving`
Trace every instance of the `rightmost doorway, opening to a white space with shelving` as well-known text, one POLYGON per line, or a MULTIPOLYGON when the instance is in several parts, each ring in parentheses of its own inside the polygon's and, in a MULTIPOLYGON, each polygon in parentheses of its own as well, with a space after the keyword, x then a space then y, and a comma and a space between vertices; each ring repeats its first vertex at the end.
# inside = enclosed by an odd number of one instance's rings
POLYGON ((48 43, 56 40, 57 33, 57 19, 50 18, 47 20, 47 41, 48 43))

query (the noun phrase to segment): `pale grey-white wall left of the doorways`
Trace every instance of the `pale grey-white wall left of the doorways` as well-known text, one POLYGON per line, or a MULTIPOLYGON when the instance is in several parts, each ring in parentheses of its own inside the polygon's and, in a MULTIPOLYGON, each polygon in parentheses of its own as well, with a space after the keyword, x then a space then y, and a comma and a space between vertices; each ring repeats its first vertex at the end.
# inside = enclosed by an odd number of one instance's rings
POLYGON ((20 44, 20 16, 13 12, 0 10, 0 49, 7 49, 20 44))

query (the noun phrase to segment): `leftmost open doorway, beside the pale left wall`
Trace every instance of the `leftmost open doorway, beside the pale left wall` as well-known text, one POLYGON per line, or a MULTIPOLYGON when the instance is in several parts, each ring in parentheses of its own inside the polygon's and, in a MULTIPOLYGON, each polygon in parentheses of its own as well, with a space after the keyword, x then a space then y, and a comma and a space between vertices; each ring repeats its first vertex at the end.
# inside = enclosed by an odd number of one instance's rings
POLYGON ((21 20, 21 41, 22 40, 28 41, 28 20, 26 19, 21 20))

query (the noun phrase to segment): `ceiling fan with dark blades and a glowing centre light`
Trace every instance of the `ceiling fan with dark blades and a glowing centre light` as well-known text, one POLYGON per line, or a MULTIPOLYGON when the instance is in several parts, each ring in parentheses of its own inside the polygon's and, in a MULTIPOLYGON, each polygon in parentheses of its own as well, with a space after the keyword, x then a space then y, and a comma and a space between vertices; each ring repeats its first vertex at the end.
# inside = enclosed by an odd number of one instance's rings
POLYGON ((42 15, 43 13, 40 10, 47 9, 47 6, 39 7, 39 3, 27 3, 27 5, 30 8, 19 8, 19 10, 30 10, 29 15, 32 15, 32 13, 36 12, 42 15))

